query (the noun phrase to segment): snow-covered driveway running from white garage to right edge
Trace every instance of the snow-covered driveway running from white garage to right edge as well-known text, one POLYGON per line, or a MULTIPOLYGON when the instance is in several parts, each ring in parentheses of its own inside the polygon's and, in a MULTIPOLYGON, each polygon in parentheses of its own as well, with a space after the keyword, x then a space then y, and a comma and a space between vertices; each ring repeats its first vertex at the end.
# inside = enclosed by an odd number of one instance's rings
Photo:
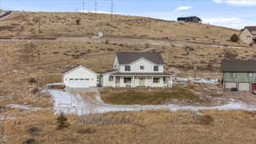
MULTIPOLYGON (((124 111, 141 111, 147 109, 170 109, 171 111, 177 110, 247 110, 256 111, 256 106, 247 105, 241 102, 231 101, 229 104, 218 107, 193 107, 193 106, 177 106, 177 105, 158 105, 158 106, 139 106, 139 105, 109 105, 101 101, 83 101, 80 95, 70 95, 69 93, 61 90, 48 90, 49 95, 53 96, 55 101, 55 113, 67 114, 90 114, 90 113, 103 113, 103 112, 124 112, 124 111)), ((98 98, 96 98, 98 99, 98 98)))

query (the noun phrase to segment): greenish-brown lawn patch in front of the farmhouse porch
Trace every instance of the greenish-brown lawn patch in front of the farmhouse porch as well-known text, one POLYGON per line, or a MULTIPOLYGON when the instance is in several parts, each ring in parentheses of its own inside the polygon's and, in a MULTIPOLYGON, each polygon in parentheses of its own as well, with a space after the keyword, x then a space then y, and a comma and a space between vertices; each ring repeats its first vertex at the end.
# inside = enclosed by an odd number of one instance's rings
POLYGON ((166 101, 187 100, 202 102, 190 89, 174 87, 173 89, 102 89, 102 100, 116 105, 161 105, 166 101))

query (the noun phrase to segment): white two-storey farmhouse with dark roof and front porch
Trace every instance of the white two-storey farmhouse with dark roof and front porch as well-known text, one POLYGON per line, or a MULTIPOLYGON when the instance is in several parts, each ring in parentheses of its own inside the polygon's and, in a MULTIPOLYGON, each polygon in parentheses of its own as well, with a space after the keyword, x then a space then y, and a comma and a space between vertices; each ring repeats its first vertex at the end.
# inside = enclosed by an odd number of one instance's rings
POLYGON ((173 74, 164 72, 159 53, 117 52, 113 69, 102 72, 103 87, 170 87, 173 74))

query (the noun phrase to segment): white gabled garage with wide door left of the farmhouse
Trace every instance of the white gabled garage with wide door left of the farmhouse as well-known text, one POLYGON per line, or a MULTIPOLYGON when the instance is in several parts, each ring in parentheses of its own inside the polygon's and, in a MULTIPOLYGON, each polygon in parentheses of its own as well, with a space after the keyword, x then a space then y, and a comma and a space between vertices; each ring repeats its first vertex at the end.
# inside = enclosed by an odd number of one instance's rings
POLYGON ((63 84, 67 88, 90 88, 97 86, 97 73, 79 65, 62 74, 63 84))

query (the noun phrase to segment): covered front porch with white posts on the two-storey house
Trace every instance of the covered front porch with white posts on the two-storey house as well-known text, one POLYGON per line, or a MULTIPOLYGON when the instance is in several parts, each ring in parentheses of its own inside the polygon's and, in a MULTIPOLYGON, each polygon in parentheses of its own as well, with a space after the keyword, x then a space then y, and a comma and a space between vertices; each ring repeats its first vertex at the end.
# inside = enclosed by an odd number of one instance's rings
POLYGON ((145 74, 113 74, 115 87, 153 87, 153 88, 172 88, 173 76, 166 75, 145 75, 145 74))

